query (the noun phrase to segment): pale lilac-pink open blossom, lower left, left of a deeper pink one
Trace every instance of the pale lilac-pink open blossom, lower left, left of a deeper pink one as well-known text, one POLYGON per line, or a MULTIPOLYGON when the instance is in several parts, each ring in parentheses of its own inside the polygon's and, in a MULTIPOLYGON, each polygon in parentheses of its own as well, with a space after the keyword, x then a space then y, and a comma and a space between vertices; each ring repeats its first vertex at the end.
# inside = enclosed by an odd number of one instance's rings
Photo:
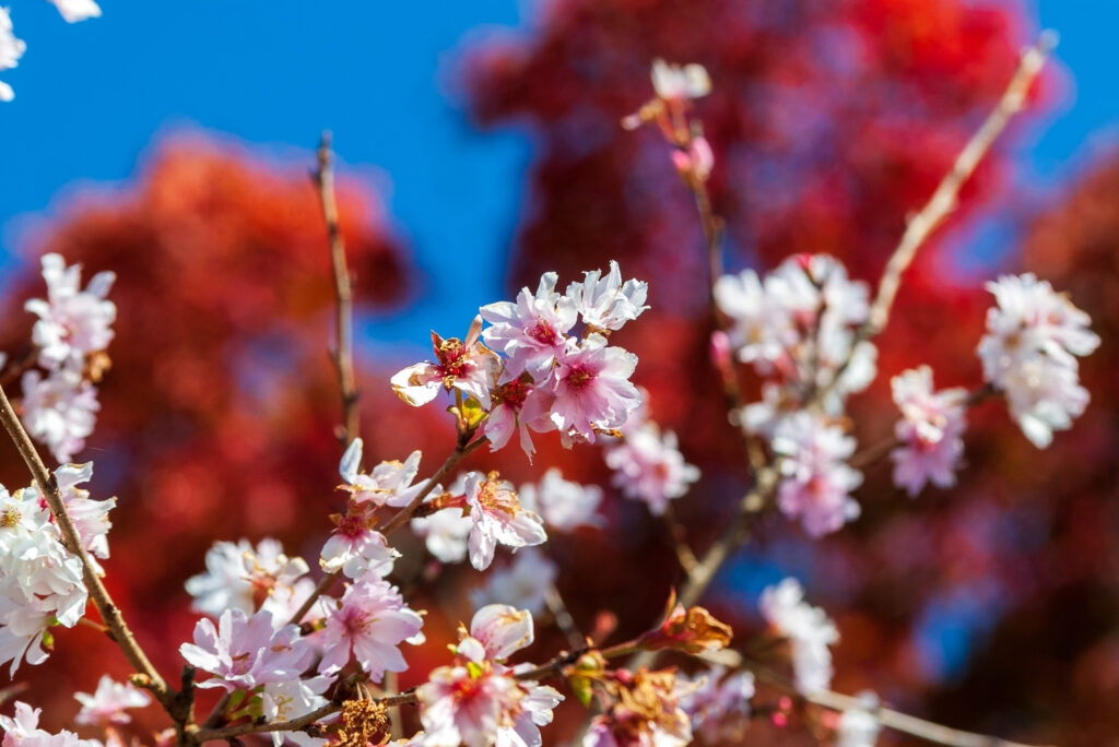
POLYGON ((272 613, 248 616, 226 609, 217 627, 209 618, 195 625, 194 643, 184 643, 179 653, 194 666, 214 674, 199 688, 252 690, 269 682, 295 679, 311 662, 313 651, 295 625, 274 630, 272 613))

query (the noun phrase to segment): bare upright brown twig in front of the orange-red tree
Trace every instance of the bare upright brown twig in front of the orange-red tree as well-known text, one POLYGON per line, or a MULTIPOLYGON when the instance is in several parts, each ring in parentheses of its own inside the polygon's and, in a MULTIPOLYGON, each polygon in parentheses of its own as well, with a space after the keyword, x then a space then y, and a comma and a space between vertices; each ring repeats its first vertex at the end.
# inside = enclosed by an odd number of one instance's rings
POLYGON ((342 399, 342 444, 349 446, 357 438, 360 428, 357 381, 354 376, 354 285, 346 265, 346 243, 338 224, 338 200, 335 196, 335 170, 330 159, 330 133, 323 132, 319 143, 318 168, 311 172, 311 180, 319 188, 319 202, 327 223, 330 243, 330 264, 335 275, 335 295, 338 303, 335 312, 335 337, 337 348, 330 357, 338 372, 338 388, 342 399))

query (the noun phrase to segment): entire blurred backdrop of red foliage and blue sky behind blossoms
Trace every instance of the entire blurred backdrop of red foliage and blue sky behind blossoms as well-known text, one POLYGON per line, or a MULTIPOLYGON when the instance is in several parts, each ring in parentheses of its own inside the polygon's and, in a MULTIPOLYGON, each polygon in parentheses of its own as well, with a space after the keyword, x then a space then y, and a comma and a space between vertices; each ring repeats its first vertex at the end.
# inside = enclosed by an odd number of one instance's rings
MULTIPOLYGON (((987 113, 1041 28, 1062 44, 1029 111, 965 190, 906 276, 882 339, 880 381, 856 433, 893 420, 888 377, 932 363, 975 385, 974 348, 1000 271, 1035 271, 1091 313, 1103 346, 1082 367, 1093 404, 1036 451, 998 406, 975 412, 960 485, 909 500, 884 465, 864 517, 809 541, 774 517, 705 604, 756 633, 761 588, 793 574, 837 618, 836 689, 876 690, 909 712, 1033 744, 1119 744, 1119 100, 1113 26, 1097 2, 982 0, 549 0, 318 7, 276 0, 103 4, 67 26, 13 0, 28 42, 0 108, 0 349, 26 346, 22 301, 46 250, 119 275, 120 309, 97 432, 79 458, 116 494, 109 585, 164 671, 194 615, 182 581, 214 539, 271 535, 314 558, 340 505, 337 393, 326 350, 332 286, 314 190, 319 132, 341 160, 344 233, 360 301, 367 455, 452 447, 438 408, 416 412, 387 376, 427 331, 466 331, 478 305, 542 271, 563 282, 621 261, 653 310, 619 335, 641 359, 653 417, 704 477, 679 501, 693 542, 717 533, 747 484, 706 365, 699 228, 664 145, 618 120, 649 95, 653 57, 699 62, 715 92, 696 113, 717 166, 728 270, 798 253, 874 281, 903 228, 987 113), (683 384, 681 384, 683 382, 683 384)), ((545 444, 477 454, 530 481, 551 465, 605 484, 598 451, 545 444)), ((26 476, 0 450, 0 480, 26 476)), ((678 581, 662 527, 608 491, 604 530, 549 542, 560 588, 590 627, 648 626, 678 581), (610 568, 610 573, 603 573, 610 568)), ((416 548, 419 552, 419 548, 416 548)), ((506 556, 507 559, 507 556, 506 556)), ((401 580, 413 576, 402 564, 401 580)), ((469 618, 469 568, 420 586, 431 644, 406 687, 469 618)), ((564 645, 542 631, 529 652, 564 645)), ((88 628, 18 673, 55 725, 101 671, 128 673, 88 628)), ((579 722, 564 706, 546 737, 579 722)), ((140 726, 160 721, 154 711, 140 726)), ((891 737, 892 738, 892 737, 891 737)), ((756 744, 810 744, 765 722, 756 744)), ((893 738, 892 738, 893 739, 893 738)), ((900 741, 900 739, 895 739, 900 741)))

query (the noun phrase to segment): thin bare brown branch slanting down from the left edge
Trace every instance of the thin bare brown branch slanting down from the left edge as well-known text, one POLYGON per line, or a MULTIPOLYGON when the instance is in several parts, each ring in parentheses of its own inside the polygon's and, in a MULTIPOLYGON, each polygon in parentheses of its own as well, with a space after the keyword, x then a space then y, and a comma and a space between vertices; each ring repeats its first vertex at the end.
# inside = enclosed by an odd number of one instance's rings
POLYGON ((82 545, 82 538, 77 533, 77 528, 75 528, 73 519, 70 519, 69 513, 66 511, 66 503, 58 491, 58 483, 39 457, 35 444, 31 443, 27 431, 23 429, 23 425, 19 422, 19 417, 16 415, 16 410, 11 406, 11 401, 8 399, 8 395, 4 393, 2 386, 0 386, 0 423, 3 424, 4 431, 8 432, 12 443, 16 444, 19 455, 23 457, 23 462, 27 464, 28 470, 30 470, 31 476, 39 485, 40 493, 47 501, 47 505, 50 507, 50 512, 54 514, 55 521, 58 522, 58 531, 63 537, 63 545, 82 562, 82 577, 85 588, 90 593, 90 598, 93 601, 94 606, 97 607, 102 620, 105 621, 105 625, 112 632, 113 641, 120 646, 124 656, 129 660, 129 664, 145 678, 144 687, 152 691, 159 702, 168 710, 171 718, 177 719, 178 724, 181 725, 185 715, 177 712, 178 709, 173 702, 175 693, 171 692, 170 688, 167 687, 167 682, 156 671, 148 655, 140 647, 132 631, 124 622, 124 616, 121 614, 120 608, 113 603, 109 590, 105 589, 105 585, 101 583, 101 578, 94 569, 93 561, 82 545))

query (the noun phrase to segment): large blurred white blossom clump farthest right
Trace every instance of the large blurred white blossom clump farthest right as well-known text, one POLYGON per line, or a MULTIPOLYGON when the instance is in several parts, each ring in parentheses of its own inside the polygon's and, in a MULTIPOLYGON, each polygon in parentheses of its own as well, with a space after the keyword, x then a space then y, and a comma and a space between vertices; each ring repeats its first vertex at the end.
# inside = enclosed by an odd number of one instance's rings
POLYGON ((1084 412, 1076 357, 1090 354, 1100 338, 1091 319, 1033 274, 1006 275, 988 283, 997 305, 987 312, 979 341, 984 378, 1006 395, 1010 415, 1038 448, 1084 412))

